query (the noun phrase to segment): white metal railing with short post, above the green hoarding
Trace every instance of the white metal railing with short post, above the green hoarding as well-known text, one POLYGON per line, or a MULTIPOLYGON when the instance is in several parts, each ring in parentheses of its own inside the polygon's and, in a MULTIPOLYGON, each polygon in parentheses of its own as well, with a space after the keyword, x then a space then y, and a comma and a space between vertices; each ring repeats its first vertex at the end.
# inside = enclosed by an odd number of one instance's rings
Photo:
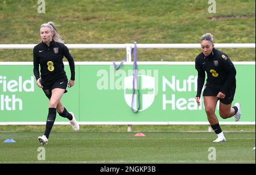
MULTIPOLYGON (((0 49, 33 49, 36 44, 0 44, 0 49)), ((69 49, 126 49, 127 62, 131 62, 134 44, 65 44, 69 49)), ((197 49, 200 44, 137 44, 138 49, 197 49)), ((217 43, 216 48, 255 48, 255 43, 217 43)))

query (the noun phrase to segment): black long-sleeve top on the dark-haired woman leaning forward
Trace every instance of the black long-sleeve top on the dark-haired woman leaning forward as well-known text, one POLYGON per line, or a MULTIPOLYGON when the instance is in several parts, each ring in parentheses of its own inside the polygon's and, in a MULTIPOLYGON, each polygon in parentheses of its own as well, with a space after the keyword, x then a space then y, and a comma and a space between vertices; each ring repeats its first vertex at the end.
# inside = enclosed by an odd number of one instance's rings
POLYGON ((196 57, 197 97, 201 96, 204 86, 205 72, 207 72, 208 87, 219 88, 220 92, 226 94, 232 87, 236 86, 236 69, 229 57, 220 50, 214 49, 209 56, 200 53, 196 57))

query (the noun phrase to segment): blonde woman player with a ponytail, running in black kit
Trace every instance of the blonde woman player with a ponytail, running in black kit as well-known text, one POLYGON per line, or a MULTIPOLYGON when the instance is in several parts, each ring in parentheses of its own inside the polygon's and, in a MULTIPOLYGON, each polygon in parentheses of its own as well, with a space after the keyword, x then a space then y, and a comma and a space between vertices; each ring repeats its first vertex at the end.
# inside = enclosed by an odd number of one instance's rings
POLYGON ((48 143, 49 134, 55 122, 56 112, 61 117, 68 118, 73 130, 79 130, 79 124, 72 112, 68 112, 61 103, 61 97, 67 92, 66 88, 75 85, 75 63, 67 46, 56 31, 55 24, 48 22, 40 27, 42 42, 34 47, 34 75, 36 84, 42 88, 49 99, 49 109, 46 121, 46 130, 38 137, 42 145, 48 143), (68 59, 71 70, 71 79, 68 82, 64 71, 63 57, 68 59), (39 73, 40 65, 40 73, 39 73))

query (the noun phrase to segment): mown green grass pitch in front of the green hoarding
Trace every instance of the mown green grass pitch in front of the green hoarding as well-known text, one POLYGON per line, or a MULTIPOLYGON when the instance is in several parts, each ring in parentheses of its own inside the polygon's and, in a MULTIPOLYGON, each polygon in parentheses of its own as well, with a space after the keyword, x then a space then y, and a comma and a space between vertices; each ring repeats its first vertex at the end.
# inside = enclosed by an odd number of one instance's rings
MULTIPOLYGON (((52 132, 45 160, 38 160, 39 132, 0 132, 0 163, 253 163, 255 132, 225 133, 227 142, 213 143, 214 133, 146 131, 52 132), (3 143, 5 139, 16 143, 3 143), (209 160, 212 148, 216 160, 209 160)), ((39 148, 40 149, 40 148, 39 148)))

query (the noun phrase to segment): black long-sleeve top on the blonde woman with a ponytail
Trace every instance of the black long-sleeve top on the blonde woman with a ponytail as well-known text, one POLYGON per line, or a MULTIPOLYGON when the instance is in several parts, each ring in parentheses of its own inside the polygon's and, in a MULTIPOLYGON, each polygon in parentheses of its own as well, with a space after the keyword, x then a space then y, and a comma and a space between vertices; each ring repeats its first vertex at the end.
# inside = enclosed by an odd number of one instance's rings
POLYGON ((64 70, 63 57, 68 59, 71 70, 71 80, 75 80, 75 62, 67 46, 52 40, 49 46, 41 42, 33 49, 34 75, 36 80, 40 77, 47 86, 56 80, 65 81, 67 79, 64 70), (40 65, 40 74, 39 74, 40 65))

